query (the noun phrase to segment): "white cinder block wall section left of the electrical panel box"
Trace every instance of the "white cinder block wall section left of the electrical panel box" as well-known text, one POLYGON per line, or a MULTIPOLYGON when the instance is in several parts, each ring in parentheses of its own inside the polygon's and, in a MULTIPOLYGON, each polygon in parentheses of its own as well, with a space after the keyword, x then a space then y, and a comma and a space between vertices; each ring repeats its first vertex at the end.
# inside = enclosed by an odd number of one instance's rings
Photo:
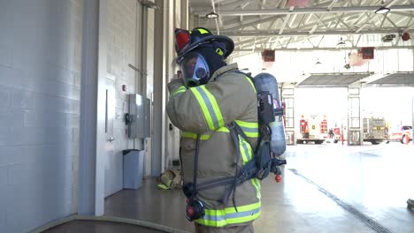
MULTIPOLYGON (((115 116, 113 121, 114 155, 110 156, 109 166, 115 170, 112 176, 122 179, 121 151, 132 148, 133 140, 126 135, 124 121, 124 102, 127 94, 135 93, 135 72, 128 64, 135 64, 135 32, 136 32, 135 0, 109 1, 107 21, 107 72, 115 84, 115 116), (127 91, 122 91, 122 85, 127 91)), ((118 180, 114 179, 114 180, 118 180)), ((112 187, 117 192, 122 186, 112 187)))

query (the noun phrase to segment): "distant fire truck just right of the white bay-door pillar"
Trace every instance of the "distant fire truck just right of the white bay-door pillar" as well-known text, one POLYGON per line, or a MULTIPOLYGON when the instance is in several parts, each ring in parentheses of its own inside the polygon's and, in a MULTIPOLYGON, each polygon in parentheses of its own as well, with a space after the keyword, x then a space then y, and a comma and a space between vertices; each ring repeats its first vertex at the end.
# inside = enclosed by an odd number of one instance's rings
POLYGON ((387 140, 387 127, 384 118, 364 118, 363 131, 364 141, 371 142, 372 145, 387 140))

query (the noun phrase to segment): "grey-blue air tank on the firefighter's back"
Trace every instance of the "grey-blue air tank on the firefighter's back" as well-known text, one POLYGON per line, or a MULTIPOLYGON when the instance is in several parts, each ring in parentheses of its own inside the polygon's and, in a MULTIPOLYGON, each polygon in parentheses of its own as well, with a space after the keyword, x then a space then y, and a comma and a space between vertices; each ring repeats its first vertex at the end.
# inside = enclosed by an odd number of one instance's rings
MULTIPOLYGON (((274 76, 270 73, 259 73, 254 78, 255 86, 257 89, 257 94, 272 94, 271 97, 268 96, 268 100, 272 101, 272 115, 271 118, 274 116, 274 120, 271 121, 268 125, 271 129, 271 137, 270 137, 270 147, 273 154, 276 156, 280 156, 281 154, 285 153, 286 151, 286 139, 285 139, 285 127, 283 124, 283 116, 277 115, 277 113, 281 113, 281 102, 279 97, 279 88, 278 82, 274 76)), ((259 113, 260 115, 260 113, 259 113)), ((262 123, 263 124, 263 123, 262 123)))

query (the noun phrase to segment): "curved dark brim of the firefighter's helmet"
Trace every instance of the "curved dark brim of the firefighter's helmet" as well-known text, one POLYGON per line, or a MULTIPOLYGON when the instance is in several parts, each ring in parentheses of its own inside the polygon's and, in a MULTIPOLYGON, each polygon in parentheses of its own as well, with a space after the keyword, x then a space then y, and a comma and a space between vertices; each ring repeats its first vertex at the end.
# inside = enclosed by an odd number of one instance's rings
POLYGON ((233 52, 233 50, 234 50, 234 41, 232 39, 230 39, 230 37, 227 37, 225 35, 209 35, 209 36, 203 37, 200 41, 196 41, 195 43, 188 44, 188 46, 181 49, 181 51, 179 53, 179 56, 177 56, 177 58, 176 58, 176 62, 179 63, 180 60, 181 60, 180 58, 182 56, 184 56, 188 52, 200 47, 203 43, 205 43, 205 42, 214 42, 214 41, 218 41, 220 43, 225 44, 226 53, 223 54, 224 58, 226 58, 227 56, 229 56, 233 52))

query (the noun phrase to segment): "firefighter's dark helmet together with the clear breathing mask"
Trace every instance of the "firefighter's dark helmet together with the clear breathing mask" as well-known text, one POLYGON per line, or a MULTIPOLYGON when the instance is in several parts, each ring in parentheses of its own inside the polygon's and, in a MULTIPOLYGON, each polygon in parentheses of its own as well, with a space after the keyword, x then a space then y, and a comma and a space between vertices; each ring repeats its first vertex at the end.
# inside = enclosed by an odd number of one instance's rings
POLYGON ((204 57, 197 51, 202 48, 213 49, 224 60, 233 52, 234 42, 227 36, 211 34, 203 27, 192 31, 175 29, 176 63, 180 65, 184 84, 188 87, 206 84, 211 78, 210 57, 204 57))

